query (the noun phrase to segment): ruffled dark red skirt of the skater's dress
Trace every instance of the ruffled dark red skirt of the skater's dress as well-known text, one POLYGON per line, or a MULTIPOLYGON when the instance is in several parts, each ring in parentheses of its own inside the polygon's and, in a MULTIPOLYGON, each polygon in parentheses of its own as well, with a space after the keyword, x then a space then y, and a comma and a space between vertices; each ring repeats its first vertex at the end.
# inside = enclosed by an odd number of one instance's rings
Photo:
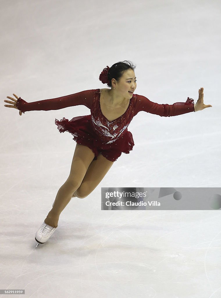
POLYGON ((133 150, 134 142, 130 131, 126 131, 122 137, 110 144, 102 142, 93 129, 91 115, 74 117, 70 121, 65 118, 60 121, 55 119, 55 124, 60 133, 68 131, 74 136, 74 141, 89 147, 95 154, 94 159, 101 153, 106 159, 114 162, 122 152, 128 154, 133 150))

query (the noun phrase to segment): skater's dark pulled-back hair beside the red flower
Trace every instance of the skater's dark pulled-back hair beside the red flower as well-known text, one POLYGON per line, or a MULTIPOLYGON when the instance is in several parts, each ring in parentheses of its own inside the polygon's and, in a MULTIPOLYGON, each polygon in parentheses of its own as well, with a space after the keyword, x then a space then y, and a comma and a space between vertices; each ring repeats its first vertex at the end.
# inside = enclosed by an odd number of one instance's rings
POLYGON ((135 68, 136 68, 136 65, 134 65, 133 62, 128 60, 114 63, 108 71, 108 79, 110 81, 110 83, 108 84, 108 87, 112 87, 112 84, 111 84, 112 79, 115 79, 116 81, 118 81, 127 69, 134 70, 135 68))

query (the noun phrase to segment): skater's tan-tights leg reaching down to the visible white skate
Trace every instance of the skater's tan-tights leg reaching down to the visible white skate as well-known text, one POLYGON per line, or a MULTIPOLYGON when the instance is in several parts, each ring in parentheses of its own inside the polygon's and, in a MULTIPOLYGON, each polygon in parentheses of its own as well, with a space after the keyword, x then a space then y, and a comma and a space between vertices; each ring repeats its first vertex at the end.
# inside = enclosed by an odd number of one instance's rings
POLYGON ((54 228, 57 227, 60 213, 67 206, 73 193, 80 186, 93 159, 94 153, 90 148, 76 144, 69 177, 57 192, 54 206, 44 220, 46 224, 54 228))

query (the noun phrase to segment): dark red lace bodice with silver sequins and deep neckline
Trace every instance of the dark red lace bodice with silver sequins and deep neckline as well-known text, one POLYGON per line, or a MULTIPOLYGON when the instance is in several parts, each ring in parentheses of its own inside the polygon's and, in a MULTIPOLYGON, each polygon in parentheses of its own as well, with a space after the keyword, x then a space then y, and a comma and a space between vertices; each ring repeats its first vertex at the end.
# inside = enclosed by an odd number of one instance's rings
POLYGON ((128 108, 123 115, 113 121, 108 121, 100 108, 100 89, 95 90, 91 107, 91 121, 94 131, 102 139, 102 142, 105 144, 112 143, 127 133, 127 126, 134 116, 135 97, 136 95, 133 94, 128 108))

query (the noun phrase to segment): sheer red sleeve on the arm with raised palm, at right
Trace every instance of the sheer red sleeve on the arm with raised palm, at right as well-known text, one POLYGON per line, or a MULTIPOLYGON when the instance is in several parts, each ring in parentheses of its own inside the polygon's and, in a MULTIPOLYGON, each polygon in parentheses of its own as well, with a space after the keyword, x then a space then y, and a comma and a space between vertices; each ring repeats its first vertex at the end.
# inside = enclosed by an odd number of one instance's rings
POLYGON ((177 116, 194 111, 194 100, 187 98, 185 103, 174 103, 172 105, 153 103, 147 97, 136 94, 137 100, 134 109, 134 116, 139 111, 159 115, 161 117, 177 116))

